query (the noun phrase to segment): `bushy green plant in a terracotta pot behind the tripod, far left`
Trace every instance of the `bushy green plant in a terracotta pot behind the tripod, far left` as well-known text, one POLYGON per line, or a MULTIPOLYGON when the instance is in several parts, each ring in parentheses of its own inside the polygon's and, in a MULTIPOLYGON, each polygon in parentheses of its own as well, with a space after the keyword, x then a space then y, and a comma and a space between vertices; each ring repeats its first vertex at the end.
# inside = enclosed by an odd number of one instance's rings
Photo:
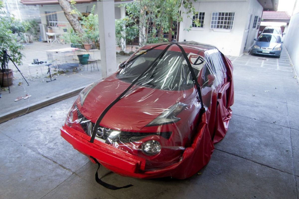
MULTIPOLYGON (((3 62, 3 55, 4 50, 7 50, 7 53, 10 55, 13 62, 17 65, 22 64, 22 58, 24 56, 21 53, 21 50, 24 48, 23 44, 17 41, 18 32, 16 32, 15 24, 20 24, 15 18, 6 15, 5 12, 2 10, 3 3, 0 1, 0 63, 3 62)), ((18 28, 19 29, 19 28, 18 28)), ((25 28, 24 28, 25 30, 25 28)), ((7 60, 8 61, 8 60, 7 60)), ((0 69, 0 76, 2 78, 4 75, 3 85, 1 86, 10 86, 13 81, 13 73, 11 69, 4 68, 1 66, 0 69), (4 74, 3 74, 4 73, 4 74), (6 76, 7 75, 7 76, 6 76), (8 77, 8 81, 7 81, 8 77)), ((2 79, 0 80, 2 84, 2 79)))

